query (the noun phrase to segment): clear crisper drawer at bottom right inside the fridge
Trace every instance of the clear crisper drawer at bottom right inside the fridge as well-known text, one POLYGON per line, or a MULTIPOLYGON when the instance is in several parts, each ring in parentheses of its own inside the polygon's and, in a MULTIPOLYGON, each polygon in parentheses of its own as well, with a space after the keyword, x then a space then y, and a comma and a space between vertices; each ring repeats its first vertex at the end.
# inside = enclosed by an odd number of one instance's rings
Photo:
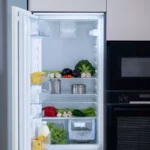
POLYGON ((68 140, 69 143, 94 143, 96 141, 96 120, 69 120, 68 140))

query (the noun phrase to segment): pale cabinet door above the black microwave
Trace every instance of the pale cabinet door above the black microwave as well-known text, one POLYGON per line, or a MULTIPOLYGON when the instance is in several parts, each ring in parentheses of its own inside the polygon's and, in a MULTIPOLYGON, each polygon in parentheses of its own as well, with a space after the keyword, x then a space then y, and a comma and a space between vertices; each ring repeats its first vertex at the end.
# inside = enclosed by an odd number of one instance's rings
POLYGON ((150 40, 150 0, 107 0, 107 40, 150 40))

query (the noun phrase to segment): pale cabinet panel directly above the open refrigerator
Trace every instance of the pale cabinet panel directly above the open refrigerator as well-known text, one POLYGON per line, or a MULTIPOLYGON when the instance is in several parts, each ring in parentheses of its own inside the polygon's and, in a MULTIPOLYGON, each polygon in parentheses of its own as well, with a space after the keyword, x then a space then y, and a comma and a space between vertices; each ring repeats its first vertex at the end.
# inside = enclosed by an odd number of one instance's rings
POLYGON ((106 0, 29 0, 30 11, 105 12, 106 0))

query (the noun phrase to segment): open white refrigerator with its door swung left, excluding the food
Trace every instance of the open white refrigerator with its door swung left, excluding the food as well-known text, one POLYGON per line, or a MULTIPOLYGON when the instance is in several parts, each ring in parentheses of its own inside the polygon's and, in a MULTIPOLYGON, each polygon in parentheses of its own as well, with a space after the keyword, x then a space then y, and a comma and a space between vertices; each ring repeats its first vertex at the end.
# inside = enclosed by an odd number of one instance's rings
POLYGON ((104 149, 104 20, 104 13, 32 13, 12 7, 12 150, 32 150, 32 139, 43 121, 66 133, 63 144, 51 139, 47 150, 104 149), (73 70, 80 60, 88 60, 95 74, 60 78, 60 94, 50 92, 49 78, 31 84, 34 72, 73 70), (86 85, 86 93, 72 94, 73 84, 86 85), (92 107, 96 115, 44 117, 46 106, 92 107))

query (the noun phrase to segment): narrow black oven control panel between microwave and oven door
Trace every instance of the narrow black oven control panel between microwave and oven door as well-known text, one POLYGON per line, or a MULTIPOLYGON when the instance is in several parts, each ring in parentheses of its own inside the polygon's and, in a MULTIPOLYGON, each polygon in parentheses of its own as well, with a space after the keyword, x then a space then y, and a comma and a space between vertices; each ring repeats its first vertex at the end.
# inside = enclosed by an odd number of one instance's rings
POLYGON ((150 92, 108 92, 107 103, 150 104, 150 92))

